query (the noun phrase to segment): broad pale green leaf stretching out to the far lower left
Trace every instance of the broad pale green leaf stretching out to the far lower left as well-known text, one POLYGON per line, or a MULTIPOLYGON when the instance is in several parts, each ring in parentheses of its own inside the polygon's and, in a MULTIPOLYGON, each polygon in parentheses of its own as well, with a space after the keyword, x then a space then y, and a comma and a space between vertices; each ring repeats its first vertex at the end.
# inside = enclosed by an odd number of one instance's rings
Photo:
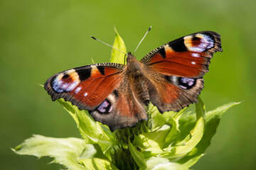
POLYGON ((69 138, 53 138, 41 135, 25 140, 21 145, 12 149, 16 154, 33 155, 36 157, 53 157, 53 162, 62 164, 68 169, 87 169, 82 166, 79 156, 86 144, 84 140, 69 138))

